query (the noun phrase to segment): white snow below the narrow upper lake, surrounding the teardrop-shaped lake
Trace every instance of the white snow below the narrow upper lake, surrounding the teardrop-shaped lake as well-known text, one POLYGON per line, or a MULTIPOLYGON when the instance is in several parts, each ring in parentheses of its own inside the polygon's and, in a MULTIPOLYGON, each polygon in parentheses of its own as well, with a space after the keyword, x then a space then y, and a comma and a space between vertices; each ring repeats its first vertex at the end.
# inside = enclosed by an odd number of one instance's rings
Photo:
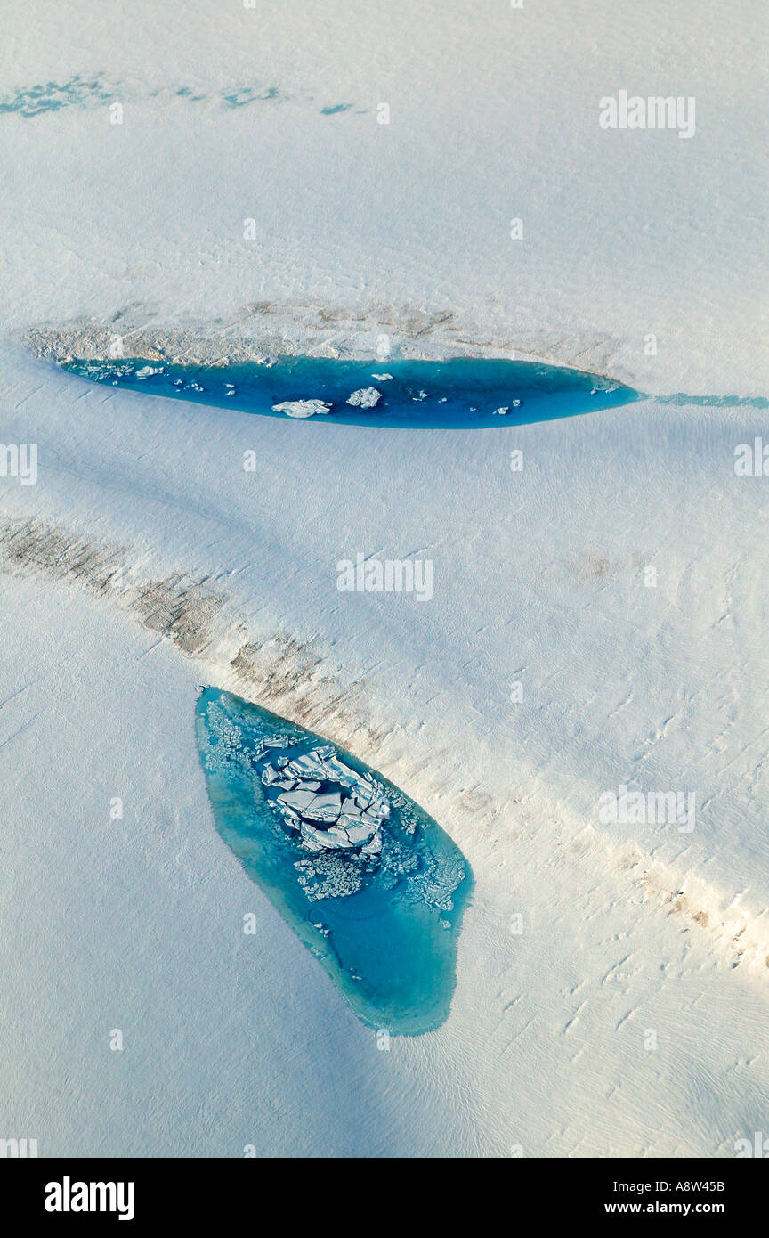
POLYGON ((759 1129, 767 498, 733 470, 754 411, 639 402, 382 433, 111 389, 105 402, 7 353, 0 381, 6 437, 40 444, 38 484, 2 483, 0 536, 15 789, 0 962, 22 1011, 0 1088, 9 1129, 45 1108, 51 1153, 181 1150, 184 1130, 182 1150, 224 1155, 255 1140, 728 1155, 759 1129), (339 461, 344 487, 329 480, 339 461), (404 462, 409 503, 393 503, 404 462), (430 605, 338 593, 340 553, 414 546, 435 563, 430 605), (476 894, 429 1050, 378 1054, 220 843, 199 683, 355 751, 464 849, 476 894), (623 782, 694 789, 696 829, 602 826, 600 796, 623 782), (75 1004, 74 1035, 52 1040, 75 1004), (114 1026, 131 1075, 109 1055, 114 1026), (284 1039, 304 1047, 277 1071, 284 1039), (324 1083, 340 1052, 366 1104, 324 1083), (179 1068, 181 1094, 164 1086, 179 1068), (267 1132, 242 1086, 255 1072, 277 1106, 267 1132), (440 1097, 436 1072, 455 1082, 440 1097), (136 1094, 153 1098, 151 1132, 136 1094))

